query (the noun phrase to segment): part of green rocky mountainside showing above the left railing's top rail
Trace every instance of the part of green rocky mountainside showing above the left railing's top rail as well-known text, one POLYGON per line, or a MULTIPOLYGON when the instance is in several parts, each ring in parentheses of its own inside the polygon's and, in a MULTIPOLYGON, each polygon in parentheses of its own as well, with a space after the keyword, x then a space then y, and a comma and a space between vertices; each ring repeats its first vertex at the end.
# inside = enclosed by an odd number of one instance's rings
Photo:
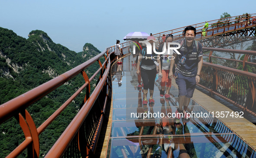
MULTIPOLYGON (((10 91, 22 93, 30 90, 100 53, 90 43, 86 43, 83 50, 76 53, 56 44, 44 31, 31 31, 26 39, 12 30, 0 28, 0 97, 5 96, 5 99, 0 99, 0 104, 19 94, 10 95, 10 91), (13 82, 17 86, 6 84, 13 82)), ((97 68, 95 64, 94 68, 97 68)), ((88 76, 94 73, 94 68, 86 70, 88 76)), ((83 78, 81 82, 84 82, 83 78)))

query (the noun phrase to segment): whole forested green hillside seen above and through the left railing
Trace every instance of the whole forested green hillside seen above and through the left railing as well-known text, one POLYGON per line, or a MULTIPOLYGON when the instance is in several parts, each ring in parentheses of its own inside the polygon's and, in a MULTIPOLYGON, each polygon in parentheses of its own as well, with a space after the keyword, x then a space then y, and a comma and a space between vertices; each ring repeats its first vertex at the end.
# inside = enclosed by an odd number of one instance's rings
MULTIPOLYGON (((31 31, 29 38, 26 39, 12 30, 0 28, 0 104, 75 68, 99 53, 100 51, 90 43, 84 45, 82 52, 76 53, 61 44, 54 43, 43 31, 31 31)), ((94 63, 85 71, 90 77, 97 68, 99 68, 98 64, 94 63)), ((96 82, 97 78, 91 84, 92 90, 96 82)), ((82 75, 78 75, 27 108, 36 127, 39 127, 83 84, 82 75)), ((41 156, 48 152, 76 115, 82 105, 84 94, 81 93, 68 105, 66 110, 39 136, 41 156)), ((0 158, 8 155, 23 140, 24 134, 16 119, 12 118, 0 124, 0 158)), ((26 157, 26 151, 20 157, 26 157)))

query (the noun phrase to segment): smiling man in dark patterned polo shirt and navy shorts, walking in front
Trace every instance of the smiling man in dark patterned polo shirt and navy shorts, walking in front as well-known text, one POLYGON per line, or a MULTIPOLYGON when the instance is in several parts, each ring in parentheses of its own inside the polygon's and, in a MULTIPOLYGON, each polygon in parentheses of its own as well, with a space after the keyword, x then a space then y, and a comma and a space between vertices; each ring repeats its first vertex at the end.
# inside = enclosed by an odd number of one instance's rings
MULTIPOLYGON (((193 96, 196 83, 200 81, 200 73, 203 65, 203 53, 202 44, 194 40, 196 35, 196 29, 192 26, 188 26, 184 30, 185 40, 181 40, 181 48, 178 52, 173 53, 177 61, 177 67, 175 74, 172 73, 172 68, 175 61, 171 60, 169 77, 174 76, 175 82, 178 85, 178 103, 179 108, 176 111, 176 118, 180 119, 177 113, 183 113, 183 117, 187 118, 187 108, 190 99, 193 96), (183 108, 183 109, 182 109, 183 108)), ((181 115, 182 116, 182 115, 181 115)))

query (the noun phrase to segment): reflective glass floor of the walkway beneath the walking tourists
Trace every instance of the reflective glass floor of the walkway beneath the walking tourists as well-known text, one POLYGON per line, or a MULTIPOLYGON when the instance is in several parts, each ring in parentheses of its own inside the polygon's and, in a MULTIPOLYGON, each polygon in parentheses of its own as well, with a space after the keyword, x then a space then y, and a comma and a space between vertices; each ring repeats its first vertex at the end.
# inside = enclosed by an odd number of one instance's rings
POLYGON ((143 88, 137 87, 130 56, 123 58, 123 65, 113 65, 111 73, 108 158, 256 158, 248 144, 193 99, 188 111, 194 112, 194 117, 176 119, 178 90, 173 86, 171 99, 165 99, 160 97, 156 82, 155 104, 143 107, 143 88))

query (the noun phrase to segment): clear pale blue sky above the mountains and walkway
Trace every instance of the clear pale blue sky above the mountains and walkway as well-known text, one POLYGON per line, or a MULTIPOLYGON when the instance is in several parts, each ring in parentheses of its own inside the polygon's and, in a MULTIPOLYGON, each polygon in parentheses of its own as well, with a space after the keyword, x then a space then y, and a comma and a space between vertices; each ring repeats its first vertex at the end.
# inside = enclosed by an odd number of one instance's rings
POLYGON ((129 32, 159 33, 245 12, 256 13, 256 1, 225 0, 0 0, 0 27, 28 38, 45 31, 55 43, 81 52, 85 43, 100 51, 124 42, 129 32), (212 4, 213 3, 213 4, 212 4))

